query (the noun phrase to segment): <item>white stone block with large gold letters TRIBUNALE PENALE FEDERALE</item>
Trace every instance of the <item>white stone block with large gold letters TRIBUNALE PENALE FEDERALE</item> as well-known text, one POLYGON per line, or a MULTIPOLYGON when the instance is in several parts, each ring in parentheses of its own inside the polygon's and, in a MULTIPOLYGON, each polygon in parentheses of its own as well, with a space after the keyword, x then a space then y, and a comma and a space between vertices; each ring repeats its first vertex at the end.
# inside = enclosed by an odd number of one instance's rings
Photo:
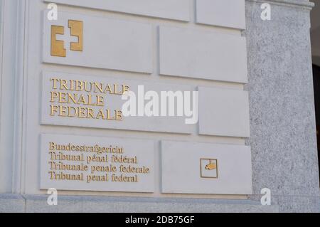
MULTIPOLYGON (((73 90, 61 90, 58 87, 61 83, 57 83, 57 89, 53 89, 54 82, 51 79, 65 80, 70 88, 70 80, 78 80, 80 82, 87 81, 88 83, 103 83, 105 86, 110 85, 112 88, 112 92, 114 92, 114 85, 117 85, 117 93, 122 92, 123 86, 128 86, 129 90, 136 94, 138 99, 138 88, 140 85, 144 86, 144 93, 149 90, 156 91, 156 93, 161 94, 161 91, 192 91, 191 86, 188 85, 174 85, 174 84, 165 84, 165 83, 149 83, 144 80, 122 80, 116 78, 107 78, 107 77, 97 77, 90 75, 72 75, 66 73, 55 73, 55 72, 44 72, 43 80, 42 80, 42 112, 41 112, 41 124, 42 125, 65 125, 65 126, 77 126, 77 127, 86 127, 86 128, 102 128, 102 129, 117 129, 117 130, 137 130, 137 131, 146 131, 146 132, 174 132, 174 133, 183 133, 183 134, 191 134, 193 132, 193 128, 196 125, 186 125, 185 119, 186 117, 139 117, 138 114, 138 101, 136 102, 136 114, 137 116, 128 116, 122 117, 123 120, 114 120, 117 117, 116 111, 119 112, 122 110, 122 105, 127 100, 122 100, 122 95, 119 94, 110 94, 110 93, 95 93, 94 90, 92 92, 87 93, 85 91, 73 91, 73 90), (73 95, 77 95, 76 102, 73 103, 73 100, 65 99, 66 94, 63 94, 63 103, 59 102, 60 97, 54 96, 53 102, 52 95, 53 93, 70 93, 72 97, 73 95), (84 105, 82 102, 78 102, 80 100, 81 95, 84 95, 86 104, 84 105), (89 97, 91 95, 91 104, 87 105, 89 97), (96 96, 102 96, 104 103, 102 106, 95 105, 97 103, 96 96), (64 103, 70 101, 71 103, 64 103), (78 104, 80 103, 80 104, 78 104), (54 106, 54 107, 51 107, 54 106), (55 108, 58 106, 63 106, 61 108, 55 108), (75 115, 75 110, 65 109, 66 107, 73 107, 78 110, 78 114, 75 115), (80 114, 79 108, 85 108, 85 113, 80 114), (93 111, 92 115, 88 114, 89 109, 93 111), (51 115, 51 110, 55 112, 51 115), (60 114, 60 110, 65 110, 67 112, 63 112, 60 114), (102 115, 99 115, 100 110, 103 112, 102 115), (109 111, 109 115, 107 115, 107 111, 109 111), (69 116, 70 115, 70 116, 69 116)), ((73 85, 75 86, 75 84, 73 85)), ((75 88, 74 88, 75 89, 75 88)), ((105 90, 105 88, 103 88, 105 90)), ((145 102, 146 103, 146 102, 145 102)), ((160 103, 160 102, 159 102, 160 103)), ((144 110, 144 107, 142 108, 144 110)))

